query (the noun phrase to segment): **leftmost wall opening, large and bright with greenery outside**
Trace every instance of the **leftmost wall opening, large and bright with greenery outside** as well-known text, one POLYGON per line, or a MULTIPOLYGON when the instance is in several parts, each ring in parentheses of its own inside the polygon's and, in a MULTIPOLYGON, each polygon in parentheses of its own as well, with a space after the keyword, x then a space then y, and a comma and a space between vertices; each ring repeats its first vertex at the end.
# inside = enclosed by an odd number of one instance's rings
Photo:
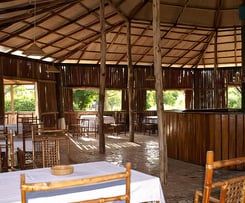
POLYGON ((5 124, 16 123, 17 113, 37 115, 36 83, 4 79, 5 124))

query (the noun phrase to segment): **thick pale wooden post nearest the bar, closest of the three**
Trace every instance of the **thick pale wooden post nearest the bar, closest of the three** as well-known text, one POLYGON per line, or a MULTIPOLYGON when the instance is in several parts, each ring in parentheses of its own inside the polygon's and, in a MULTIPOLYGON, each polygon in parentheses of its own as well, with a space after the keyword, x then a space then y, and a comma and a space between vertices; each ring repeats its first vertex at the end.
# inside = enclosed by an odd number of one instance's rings
POLYGON ((154 74, 155 89, 157 99, 157 116, 158 116, 158 135, 159 135, 159 159, 160 159, 160 179, 162 184, 167 183, 167 140, 164 132, 163 120, 163 76, 161 63, 161 36, 160 36, 160 0, 153 0, 153 52, 154 52, 154 74))

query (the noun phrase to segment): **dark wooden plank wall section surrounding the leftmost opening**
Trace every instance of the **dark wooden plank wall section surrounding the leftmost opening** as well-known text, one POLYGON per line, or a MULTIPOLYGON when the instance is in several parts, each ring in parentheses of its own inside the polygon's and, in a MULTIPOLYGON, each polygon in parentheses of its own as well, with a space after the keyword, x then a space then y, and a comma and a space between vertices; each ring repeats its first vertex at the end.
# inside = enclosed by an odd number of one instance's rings
MULTIPOLYGON (((46 70, 51 64, 23 57, 0 54, 0 66, 1 98, 4 98, 3 79, 36 82, 40 117, 43 113, 57 112, 56 77, 55 74, 46 73, 46 70)), ((4 103, 0 104, 0 115, 3 115, 4 103)))

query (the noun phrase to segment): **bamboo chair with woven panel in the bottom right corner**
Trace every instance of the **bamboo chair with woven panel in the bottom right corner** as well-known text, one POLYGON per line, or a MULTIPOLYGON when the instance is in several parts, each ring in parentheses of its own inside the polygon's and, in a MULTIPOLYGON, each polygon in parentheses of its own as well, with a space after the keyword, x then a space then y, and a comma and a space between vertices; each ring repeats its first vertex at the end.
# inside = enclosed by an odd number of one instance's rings
POLYGON ((203 192, 195 192, 194 203, 208 202, 245 202, 245 176, 224 178, 214 182, 214 170, 225 167, 238 167, 245 163, 245 157, 214 161, 214 152, 208 151, 203 192))

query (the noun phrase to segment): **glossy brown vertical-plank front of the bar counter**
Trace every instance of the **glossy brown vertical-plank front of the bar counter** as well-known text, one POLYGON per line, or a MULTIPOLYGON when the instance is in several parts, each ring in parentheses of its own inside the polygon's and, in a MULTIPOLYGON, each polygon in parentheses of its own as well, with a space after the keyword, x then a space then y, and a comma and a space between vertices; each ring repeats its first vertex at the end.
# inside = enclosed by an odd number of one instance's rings
POLYGON ((245 115, 241 112, 165 111, 168 156, 205 164, 206 151, 215 159, 245 156, 245 115))

